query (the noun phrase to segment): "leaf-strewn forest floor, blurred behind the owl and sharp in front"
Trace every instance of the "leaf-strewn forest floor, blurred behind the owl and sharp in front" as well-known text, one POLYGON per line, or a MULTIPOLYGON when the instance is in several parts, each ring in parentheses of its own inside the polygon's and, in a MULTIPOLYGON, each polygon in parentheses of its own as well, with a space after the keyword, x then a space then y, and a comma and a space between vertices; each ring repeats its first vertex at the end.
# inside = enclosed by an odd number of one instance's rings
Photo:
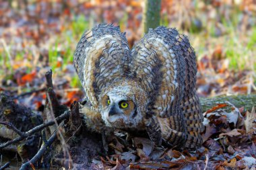
MULTIPOLYGON (((199 96, 255 93, 255 5, 190 3, 163 0, 161 23, 189 36, 197 54, 199 96)), ((0 92, 37 113, 44 109, 44 74, 50 69, 61 104, 70 106, 84 97, 72 60, 85 30, 100 22, 120 25, 130 46, 142 36, 141 1, 1 1, 0 15, 0 92)), ((115 155, 95 166, 255 168, 250 164, 256 158, 255 110, 232 105, 226 112, 224 107, 204 113, 204 143, 194 153, 159 150, 146 138, 135 138, 128 151, 116 138, 109 144, 115 155), (131 156, 134 160, 127 159, 131 156), (153 157, 161 161, 150 162, 153 157)))

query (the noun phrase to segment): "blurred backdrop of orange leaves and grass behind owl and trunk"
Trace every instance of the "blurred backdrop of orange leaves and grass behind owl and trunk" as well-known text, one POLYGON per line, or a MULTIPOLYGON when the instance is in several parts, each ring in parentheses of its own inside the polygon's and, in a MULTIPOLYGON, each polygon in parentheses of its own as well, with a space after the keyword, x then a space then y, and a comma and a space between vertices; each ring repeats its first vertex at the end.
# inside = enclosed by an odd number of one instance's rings
MULTIPOLYGON (((82 33, 113 23, 132 47, 143 36, 143 6, 143 0, 0 1, 0 92, 42 111, 44 74, 52 69, 61 103, 82 99, 72 65, 82 33)), ((200 97, 255 93, 256 0, 162 0, 161 25, 189 36, 200 97)))

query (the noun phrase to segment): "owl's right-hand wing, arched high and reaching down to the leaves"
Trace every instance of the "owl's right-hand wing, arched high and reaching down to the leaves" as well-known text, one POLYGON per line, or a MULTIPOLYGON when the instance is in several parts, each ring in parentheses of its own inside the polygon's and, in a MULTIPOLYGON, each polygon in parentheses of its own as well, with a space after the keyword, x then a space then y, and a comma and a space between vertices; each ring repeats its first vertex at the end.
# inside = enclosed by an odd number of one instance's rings
POLYGON ((199 144, 202 117, 198 97, 194 93, 195 53, 187 37, 175 29, 158 27, 139 40, 131 54, 131 74, 141 81, 151 97, 146 115, 151 119, 146 125, 155 129, 148 132, 154 135, 160 132, 164 140, 173 146, 193 147, 199 144), (198 133, 193 134, 193 130, 198 133), (185 143, 187 140, 189 144, 185 143))

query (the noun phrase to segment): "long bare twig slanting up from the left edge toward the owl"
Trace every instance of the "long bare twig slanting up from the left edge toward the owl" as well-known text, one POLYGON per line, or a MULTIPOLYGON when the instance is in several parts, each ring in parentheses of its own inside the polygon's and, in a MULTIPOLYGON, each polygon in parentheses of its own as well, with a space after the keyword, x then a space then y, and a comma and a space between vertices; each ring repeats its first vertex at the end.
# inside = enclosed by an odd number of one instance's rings
POLYGON ((0 149, 4 148, 6 146, 9 146, 10 144, 16 143, 16 142, 20 142, 21 140, 23 140, 24 138, 42 130, 43 128, 47 127, 47 126, 52 126, 53 124, 55 124, 56 122, 61 122, 62 120, 65 120, 66 118, 69 118, 70 116, 70 112, 68 110, 66 110, 63 114, 61 114, 61 116, 57 117, 56 120, 51 120, 50 122, 46 122, 44 124, 40 124, 34 128, 32 128, 31 130, 28 130, 27 132, 24 132, 24 135, 15 138, 13 140, 9 140, 8 142, 5 142, 5 144, 1 144, 0 145, 0 149))

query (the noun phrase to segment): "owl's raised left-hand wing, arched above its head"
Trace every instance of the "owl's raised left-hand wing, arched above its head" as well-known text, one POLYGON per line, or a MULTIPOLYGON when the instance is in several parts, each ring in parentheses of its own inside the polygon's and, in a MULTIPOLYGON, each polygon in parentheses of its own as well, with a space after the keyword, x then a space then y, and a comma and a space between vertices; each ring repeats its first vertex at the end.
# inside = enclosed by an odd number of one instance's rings
POLYGON ((75 50, 73 65, 94 108, 107 83, 129 71, 130 51, 125 34, 113 24, 99 24, 84 32, 75 50))

